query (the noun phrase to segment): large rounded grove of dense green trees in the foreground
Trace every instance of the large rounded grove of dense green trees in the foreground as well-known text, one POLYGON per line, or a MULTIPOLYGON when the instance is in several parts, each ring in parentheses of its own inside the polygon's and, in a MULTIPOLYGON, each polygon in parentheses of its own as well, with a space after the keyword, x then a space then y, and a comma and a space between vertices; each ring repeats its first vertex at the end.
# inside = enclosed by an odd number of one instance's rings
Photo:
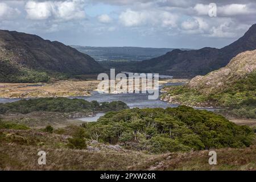
POLYGON ((112 111, 83 127, 87 138, 155 153, 248 147, 254 138, 247 126, 187 106, 112 111))

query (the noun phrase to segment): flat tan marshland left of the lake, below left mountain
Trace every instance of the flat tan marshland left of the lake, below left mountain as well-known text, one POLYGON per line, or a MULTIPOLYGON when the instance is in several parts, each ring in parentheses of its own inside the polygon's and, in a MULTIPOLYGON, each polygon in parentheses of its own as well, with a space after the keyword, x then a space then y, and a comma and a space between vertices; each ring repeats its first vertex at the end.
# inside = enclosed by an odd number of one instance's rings
POLYGON ((56 81, 35 84, 0 84, 0 97, 75 97, 89 96, 100 81, 56 81))

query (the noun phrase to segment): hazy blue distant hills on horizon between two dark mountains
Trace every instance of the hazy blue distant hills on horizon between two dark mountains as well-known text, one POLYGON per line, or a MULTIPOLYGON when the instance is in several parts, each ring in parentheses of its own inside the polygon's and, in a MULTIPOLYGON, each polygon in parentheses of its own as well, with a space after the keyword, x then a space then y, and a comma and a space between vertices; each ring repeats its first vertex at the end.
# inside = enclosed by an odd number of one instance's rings
MULTIPOLYGON (((164 55, 174 48, 71 46, 97 61, 142 61, 164 55)), ((181 49, 191 50, 191 49, 181 49)))

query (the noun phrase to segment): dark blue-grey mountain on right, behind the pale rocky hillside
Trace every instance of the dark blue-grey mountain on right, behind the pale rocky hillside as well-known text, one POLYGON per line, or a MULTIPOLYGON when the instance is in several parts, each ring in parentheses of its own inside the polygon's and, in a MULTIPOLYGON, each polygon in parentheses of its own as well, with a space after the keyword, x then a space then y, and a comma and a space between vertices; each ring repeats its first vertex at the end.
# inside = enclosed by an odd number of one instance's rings
POLYGON ((175 77, 194 77, 205 75, 224 67, 232 57, 244 51, 256 49, 256 24, 236 42, 221 49, 205 47, 198 50, 181 51, 175 49, 166 55, 138 63, 138 70, 159 72, 175 77))

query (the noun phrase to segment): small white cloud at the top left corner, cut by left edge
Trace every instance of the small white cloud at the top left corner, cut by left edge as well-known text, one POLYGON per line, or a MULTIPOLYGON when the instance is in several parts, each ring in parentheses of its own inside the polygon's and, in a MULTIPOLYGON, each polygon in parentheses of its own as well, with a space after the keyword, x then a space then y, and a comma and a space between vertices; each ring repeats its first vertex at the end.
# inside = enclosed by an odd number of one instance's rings
POLYGON ((12 19, 15 18, 20 11, 6 5, 6 3, 0 2, 0 19, 12 19))

